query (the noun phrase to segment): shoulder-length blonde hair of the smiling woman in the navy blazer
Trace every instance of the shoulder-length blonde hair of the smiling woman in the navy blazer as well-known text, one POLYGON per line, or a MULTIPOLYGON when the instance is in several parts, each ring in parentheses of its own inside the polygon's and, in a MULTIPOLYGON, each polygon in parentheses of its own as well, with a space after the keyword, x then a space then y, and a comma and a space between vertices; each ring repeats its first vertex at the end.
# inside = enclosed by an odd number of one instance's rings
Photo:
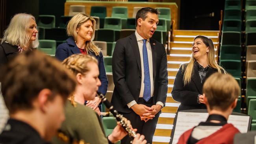
POLYGON ((75 15, 74 17, 72 17, 69 20, 69 23, 67 24, 67 34, 69 36, 72 36, 74 41, 77 41, 77 33, 76 30, 83 24, 85 23, 87 20, 91 20, 91 22, 93 23, 93 35, 91 38, 91 41, 87 41, 85 42, 85 48, 88 51, 94 52, 95 55, 100 55, 100 48, 98 48, 94 42, 93 39, 95 37, 95 26, 96 26, 96 21, 94 18, 86 15, 85 13, 78 13, 77 15, 75 15))

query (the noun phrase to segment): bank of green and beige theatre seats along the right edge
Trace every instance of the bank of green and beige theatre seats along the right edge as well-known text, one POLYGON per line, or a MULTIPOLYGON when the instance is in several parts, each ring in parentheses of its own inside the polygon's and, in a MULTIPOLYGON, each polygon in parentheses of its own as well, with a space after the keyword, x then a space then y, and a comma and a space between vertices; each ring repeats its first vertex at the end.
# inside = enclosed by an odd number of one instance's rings
POLYGON ((256 0, 225 0, 220 65, 237 79, 238 105, 247 107, 256 130, 256 0))

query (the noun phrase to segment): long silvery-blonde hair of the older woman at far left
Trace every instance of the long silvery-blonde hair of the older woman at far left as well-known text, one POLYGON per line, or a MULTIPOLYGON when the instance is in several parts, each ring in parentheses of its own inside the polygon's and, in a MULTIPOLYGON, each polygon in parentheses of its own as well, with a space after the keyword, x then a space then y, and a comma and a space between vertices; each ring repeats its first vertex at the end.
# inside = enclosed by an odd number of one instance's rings
POLYGON ((26 46, 29 48, 37 48, 39 45, 38 34, 36 35, 35 41, 32 41, 28 45, 30 40, 30 35, 27 34, 28 28, 30 26, 30 20, 35 20, 30 14, 18 13, 11 18, 11 22, 7 29, 4 31, 4 37, 2 42, 8 42, 12 45, 26 46))

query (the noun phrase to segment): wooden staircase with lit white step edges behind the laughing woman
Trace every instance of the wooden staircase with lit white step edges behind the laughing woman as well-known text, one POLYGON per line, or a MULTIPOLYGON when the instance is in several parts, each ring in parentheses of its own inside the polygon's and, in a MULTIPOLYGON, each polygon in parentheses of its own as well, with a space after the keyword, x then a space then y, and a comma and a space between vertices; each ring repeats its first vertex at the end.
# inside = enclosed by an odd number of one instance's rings
POLYGON ((191 57, 192 42, 197 35, 204 35, 213 40, 214 46, 218 50, 219 31, 191 31, 191 30, 174 30, 173 41, 170 43, 170 55, 167 55, 168 63, 168 93, 166 106, 162 109, 162 114, 158 119, 156 131, 153 137, 153 144, 169 144, 175 113, 178 109, 179 102, 173 100, 171 90, 175 76, 180 64, 186 63, 191 57))

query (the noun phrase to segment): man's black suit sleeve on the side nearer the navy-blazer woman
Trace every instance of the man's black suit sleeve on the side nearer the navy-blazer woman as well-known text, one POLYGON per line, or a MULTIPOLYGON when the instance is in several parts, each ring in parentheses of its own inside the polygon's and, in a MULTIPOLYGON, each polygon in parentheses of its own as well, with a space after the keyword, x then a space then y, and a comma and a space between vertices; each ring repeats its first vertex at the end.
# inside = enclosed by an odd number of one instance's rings
POLYGON ((128 104, 134 100, 134 97, 126 83, 126 55, 124 43, 124 41, 119 40, 115 44, 115 50, 112 56, 112 71, 115 89, 124 103, 128 104))

